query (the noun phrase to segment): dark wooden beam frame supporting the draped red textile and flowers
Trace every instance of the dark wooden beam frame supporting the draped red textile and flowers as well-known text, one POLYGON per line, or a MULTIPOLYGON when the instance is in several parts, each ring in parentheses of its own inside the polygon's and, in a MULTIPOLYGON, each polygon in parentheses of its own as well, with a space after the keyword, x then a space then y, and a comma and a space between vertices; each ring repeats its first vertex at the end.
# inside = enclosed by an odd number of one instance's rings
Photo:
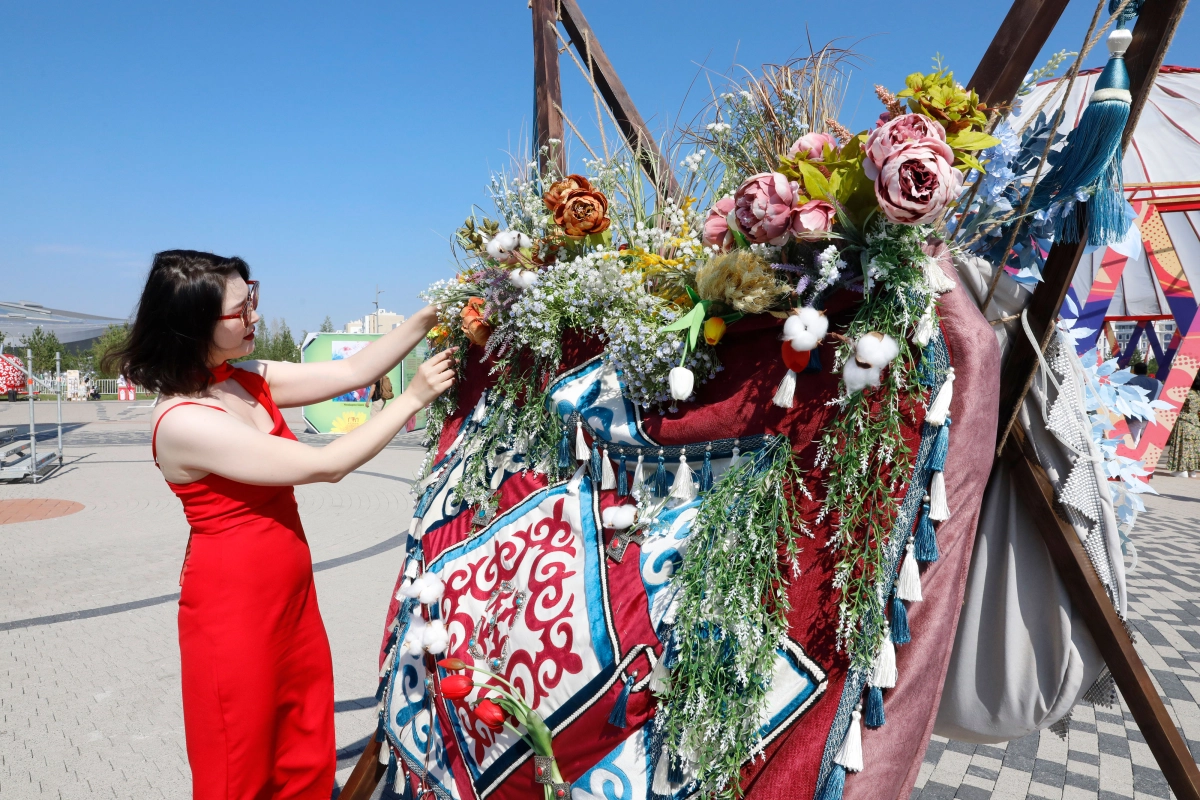
MULTIPOLYGON (((1004 106, 1012 102, 1066 6, 1067 0, 1016 0, 1013 4, 970 82, 970 86, 978 91, 984 103, 1004 106)), ((1133 43, 1126 55, 1133 94, 1123 140, 1126 145, 1138 125, 1150 86, 1163 64, 1186 6, 1187 0, 1147 2, 1138 18, 1133 43)), ((661 185, 664 178, 671 175, 671 170, 576 0, 532 0, 530 7, 534 23, 538 126, 534 140, 539 152, 552 152, 542 151, 541 148, 548 148, 550 139, 562 139, 562 91, 557 58, 557 22, 562 22, 570 36, 570 44, 580 54, 581 61, 588 65, 592 82, 608 104, 630 149, 638 155, 648 178, 661 185)), ((672 193, 673 181, 661 188, 665 193, 672 193)), ((1043 350, 1054 333, 1058 309, 1085 245, 1084 241, 1055 243, 1046 258, 1043 283, 1034 290, 1027 309, 1028 324, 1043 350)), ((1001 372, 997 457, 1012 465, 1016 485, 1033 510, 1038 530, 1070 601, 1086 620, 1171 790, 1180 800, 1200 800, 1200 770, 1154 688, 1146 666, 1138 656, 1124 622, 1096 576, 1078 534, 1058 511, 1054 485, 1028 447, 1024 431, 1015 425, 1018 410, 1033 383, 1038 363, 1033 344, 1026 337, 1014 337, 1001 372)), ((371 796, 385 769, 379 763, 379 752, 380 742, 372 738, 342 790, 343 800, 367 800, 371 796)))

